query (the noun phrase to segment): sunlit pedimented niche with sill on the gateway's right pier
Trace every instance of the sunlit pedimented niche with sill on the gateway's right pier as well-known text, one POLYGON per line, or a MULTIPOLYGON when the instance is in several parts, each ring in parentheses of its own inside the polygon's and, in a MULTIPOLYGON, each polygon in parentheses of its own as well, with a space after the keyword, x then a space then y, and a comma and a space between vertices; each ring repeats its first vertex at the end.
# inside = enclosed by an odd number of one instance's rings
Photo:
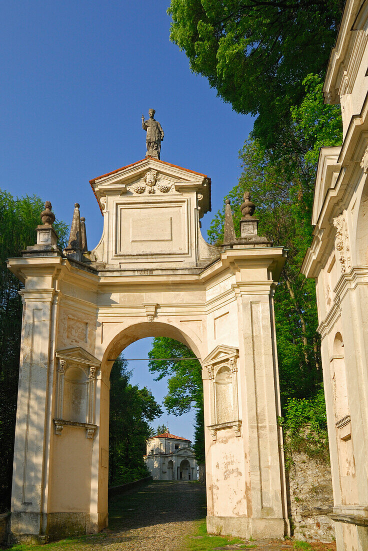
POLYGON ((215 441, 217 431, 222 429, 233 428, 235 436, 240 436, 238 359, 239 350, 226 345, 217 346, 204 359, 210 383, 210 425, 207 429, 215 441))

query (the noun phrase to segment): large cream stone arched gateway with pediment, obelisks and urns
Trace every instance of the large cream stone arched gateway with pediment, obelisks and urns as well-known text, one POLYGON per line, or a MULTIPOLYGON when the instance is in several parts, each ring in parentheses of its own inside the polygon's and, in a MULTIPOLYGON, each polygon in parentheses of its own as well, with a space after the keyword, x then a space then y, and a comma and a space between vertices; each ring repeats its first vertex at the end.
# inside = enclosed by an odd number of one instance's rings
POLYGON ((148 156, 91 181, 104 218, 94 251, 77 204, 64 253, 45 215, 37 245, 9 260, 25 284, 15 536, 107 526, 109 374, 125 347, 151 336, 201 360, 208 531, 288 531, 272 299, 285 253, 257 236, 249 199, 243 237, 227 205, 226 244, 208 245, 199 219, 210 184, 148 156))

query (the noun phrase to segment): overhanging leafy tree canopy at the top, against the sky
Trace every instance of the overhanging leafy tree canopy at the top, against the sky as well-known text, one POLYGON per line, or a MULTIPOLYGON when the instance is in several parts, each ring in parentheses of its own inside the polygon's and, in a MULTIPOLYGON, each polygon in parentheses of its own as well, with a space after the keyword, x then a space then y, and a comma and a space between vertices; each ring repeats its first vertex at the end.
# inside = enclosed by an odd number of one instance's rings
POLYGON ((305 77, 325 71, 343 4, 171 0, 170 37, 235 111, 258 115, 254 137, 274 145, 303 100, 305 77))

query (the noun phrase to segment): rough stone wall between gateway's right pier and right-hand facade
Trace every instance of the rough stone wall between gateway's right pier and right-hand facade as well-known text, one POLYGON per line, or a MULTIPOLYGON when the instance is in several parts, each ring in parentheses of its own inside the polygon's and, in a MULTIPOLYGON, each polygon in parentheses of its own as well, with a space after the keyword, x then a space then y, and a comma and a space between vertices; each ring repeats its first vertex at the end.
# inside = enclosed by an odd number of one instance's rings
POLYGON ((292 460, 287 484, 293 537, 309 542, 334 541, 334 523, 327 516, 333 507, 331 467, 303 452, 293 452, 292 460))

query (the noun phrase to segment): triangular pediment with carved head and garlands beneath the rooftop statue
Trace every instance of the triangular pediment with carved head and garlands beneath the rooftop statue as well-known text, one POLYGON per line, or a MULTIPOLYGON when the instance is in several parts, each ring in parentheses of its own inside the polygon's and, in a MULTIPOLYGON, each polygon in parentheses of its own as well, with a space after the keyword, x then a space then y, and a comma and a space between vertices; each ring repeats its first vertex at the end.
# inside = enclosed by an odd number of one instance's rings
POLYGON ((195 172, 149 157, 90 180, 101 212, 103 211, 107 194, 121 196, 127 193, 128 195, 134 195, 134 193, 142 193, 144 195, 145 193, 149 193, 149 186, 146 187, 145 191, 141 190, 145 186, 145 176, 150 171, 156 174, 157 185, 155 186, 155 192, 158 195, 160 193, 166 194, 169 191, 179 193, 185 192, 185 190, 198 191, 201 194, 200 203, 203 213, 206 213, 211 208, 211 180, 208 176, 201 174, 201 172, 195 172))

